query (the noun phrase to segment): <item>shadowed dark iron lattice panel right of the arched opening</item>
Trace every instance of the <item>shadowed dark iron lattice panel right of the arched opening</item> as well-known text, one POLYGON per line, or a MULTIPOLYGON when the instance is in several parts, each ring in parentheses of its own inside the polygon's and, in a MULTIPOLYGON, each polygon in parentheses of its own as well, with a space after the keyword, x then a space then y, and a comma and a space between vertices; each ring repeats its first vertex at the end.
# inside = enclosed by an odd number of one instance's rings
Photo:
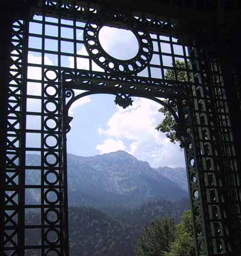
MULTIPOLYGON (((201 193, 203 207, 200 217, 208 218, 205 225, 207 246, 211 248, 208 253, 238 255, 240 174, 231 135, 222 71, 214 51, 207 53, 197 45, 192 49, 191 56, 196 84, 202 85, 192 86, 193 97, 189 111, 195 135, 195 168, 198 168, 202 187, 198 191, 198 194, 201 193), (232 190, 235 192, 231 192, 232 190), (234 237, 235 240, 232 240, 234 237)), ((192 174, 191 182, 192 177, 196 179, 195 174, 192 174)), ((194 202, 196 191, 196 188, 190 191, 194 202)), ((195 206, 193 210, 195 217, 199 207, 195 206)), ((197 234, 200 229, 196 225, 197 234)))

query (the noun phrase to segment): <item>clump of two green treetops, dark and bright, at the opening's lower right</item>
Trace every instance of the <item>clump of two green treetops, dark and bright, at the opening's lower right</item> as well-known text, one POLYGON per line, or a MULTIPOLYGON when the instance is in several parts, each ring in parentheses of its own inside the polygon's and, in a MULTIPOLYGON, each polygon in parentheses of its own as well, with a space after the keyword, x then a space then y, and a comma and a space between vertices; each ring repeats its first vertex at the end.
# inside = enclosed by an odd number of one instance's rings
POLYGON ((195 256, 191 211, 177 225, 168 217, 154 220, 139 237, 136 256, 195 256))

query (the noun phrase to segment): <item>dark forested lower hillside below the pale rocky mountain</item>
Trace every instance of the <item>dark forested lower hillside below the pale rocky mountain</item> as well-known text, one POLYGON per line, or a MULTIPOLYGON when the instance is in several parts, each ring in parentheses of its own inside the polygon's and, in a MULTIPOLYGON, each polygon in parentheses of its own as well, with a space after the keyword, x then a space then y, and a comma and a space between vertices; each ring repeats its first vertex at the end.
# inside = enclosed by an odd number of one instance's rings
MULTIPOLYGON (((139 208, 116 213, 116 216, 90 207, 69 207, 69 249, 72 256, 134 256, 138 237, 156 218, 169 216, 180 222, 189 200, 157 200, 139 208)), ((36 210, 28 211, 27 224, 39 223, 36 210)), ((49 238, 54 239, 52 234, 49 238)), ((27 244, 40 244, 40 233, 33 229, 26 232, 27 244)), ((40 256, 27 250, 26 256, 40 256)))

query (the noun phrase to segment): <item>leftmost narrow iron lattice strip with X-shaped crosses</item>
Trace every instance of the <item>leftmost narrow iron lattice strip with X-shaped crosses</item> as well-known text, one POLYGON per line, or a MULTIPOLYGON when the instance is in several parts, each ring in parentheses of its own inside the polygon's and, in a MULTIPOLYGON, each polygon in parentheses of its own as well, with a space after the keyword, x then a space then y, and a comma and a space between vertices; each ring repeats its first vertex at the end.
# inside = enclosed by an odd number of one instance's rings
POLYGON ((24 243, 20 233, 24 231, 24 135, 20 127, 24 121, 20 118, 24 106, 23 45, 25 41, 23 21, 16 21, 11 30, 10 84, 8 85, 7 109, 7 155, 5 170, 5 206, 4 210, 4 254, 17 255, 24 243))

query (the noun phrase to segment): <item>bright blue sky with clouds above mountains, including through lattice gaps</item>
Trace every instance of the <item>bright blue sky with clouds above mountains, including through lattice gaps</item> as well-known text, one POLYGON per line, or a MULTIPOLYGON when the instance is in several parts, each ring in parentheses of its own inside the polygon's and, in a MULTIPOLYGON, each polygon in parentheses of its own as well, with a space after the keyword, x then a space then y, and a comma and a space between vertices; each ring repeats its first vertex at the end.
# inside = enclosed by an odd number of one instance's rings
MULTIPOLYGON (((38 24, 31 24, 30 31, 41 33, 38 24)), ((55 33, 55 27, 48 26, 48 34, 55 33)), ((64 34, 63 30, 63 34, 64 34)), ((107 53, 119 59, 130 59, 138 50, 137 40, 131 31, 105 27, 101 31, 101 45, 107 53), (111 40, 113 39, 113 40, 111 40)), ((66 37, 72 37, 66 33, 66 37)), ((82 37, 82 31, 78 36, 82 37)), ((48 39, 45 42, 48 50, 55 50, 55 40, 48 39)), ((41 48, 41 42, 37 37, 32 37, 30 47, 41 48)), ((61 51, 72 53, 72 43, 64 42, 61 51)), ((168 45, 163 45, 168 51, 168 45)), ((77 46, 79 54, 85 56, 87 52, 81 43, 77 46)), ((28 53, 29 63, 40 63, 41 55, 30 51, 28 53)), ((57 65, 55 54, 45 54, 45 64, 57 65)), ((155 60, 155 56, 152 62, 155 60)), ((171 60, 166 60, 171 65, 171 60)), ((99 66, 92 63, 96 71, 101 71, 99 66)), ((74 57, 65 56, 61 65, 74 67, 74 57), (64 63, 64 64, 63 64, 64 63)), ((80 58, 77 67, 87 69, 89 63, 80 58)), ((145 71, 143 71, 145 72, 145 71)), ((143 73, 142 72, 142 73, 143 73)), ((153 71, 155 72, 155 70, 153 71)), ((159 74, 157 74, 157 77, 159 74)), ((29 67, 28 78, 41 78, 40 68, 29 67)), ((33 95, 40 94, 40 86, 37 83, 28 84, 28 92, 33 95)), ((155 130, 155 126, 163 119, 158 108, 160 105, 151 100, 133 98, 133 106, 122 109, 114 103, 114 95, 91 95, 81 98, 70 108, 69 115, 74 117, 71 122, 72 129, 67 135, 67 152, 75 155, 90 156, 100 153, 108 153, 116 150, 125 150, 138 159, 148 161, 152 167, 170 166, 183 167, 184 153, 178 144, 172 144, 163 133, 155 130)), ((39 108, 36 101, 30 100, 28 107, 39 108)), ((40 120, 31 117, 28 126, 39 126, 40 120)), ((36 138, 29 138, 28 143, 37 143, 36 138)))

